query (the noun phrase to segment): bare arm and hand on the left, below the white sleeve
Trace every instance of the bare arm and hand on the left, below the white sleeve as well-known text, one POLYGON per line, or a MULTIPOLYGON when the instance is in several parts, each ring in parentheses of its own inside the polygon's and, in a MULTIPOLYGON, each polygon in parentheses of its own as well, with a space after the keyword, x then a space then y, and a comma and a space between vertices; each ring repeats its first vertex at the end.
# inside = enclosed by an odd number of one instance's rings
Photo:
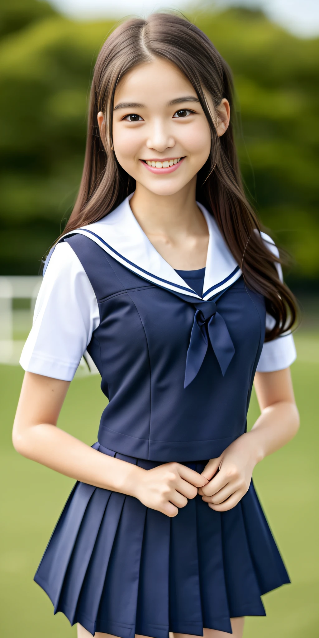
POLYGON ((70 382, 26 372, 13 424, 17 452, 84 483, 136 496, 144 505, 175 516, 207 480, 178 463, 154 470, 101 454, 57 427, 70 382), (196 487, 195 487, 196 486, 196 487))

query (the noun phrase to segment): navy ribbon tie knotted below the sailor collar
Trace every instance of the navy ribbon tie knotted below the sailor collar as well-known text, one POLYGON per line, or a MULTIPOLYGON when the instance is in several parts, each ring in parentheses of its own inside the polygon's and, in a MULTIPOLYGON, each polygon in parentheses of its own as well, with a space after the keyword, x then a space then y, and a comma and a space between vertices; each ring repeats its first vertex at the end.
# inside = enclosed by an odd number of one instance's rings
POLYGON ((208 340, 211 342, 223 376, 235 353, 228 328, 223 317, 217 312, 216 303, 203 301, 193 305, 197 310, 186 355, 184 388, 195 379, 200 366, 202 366, 208 348, 208 340))

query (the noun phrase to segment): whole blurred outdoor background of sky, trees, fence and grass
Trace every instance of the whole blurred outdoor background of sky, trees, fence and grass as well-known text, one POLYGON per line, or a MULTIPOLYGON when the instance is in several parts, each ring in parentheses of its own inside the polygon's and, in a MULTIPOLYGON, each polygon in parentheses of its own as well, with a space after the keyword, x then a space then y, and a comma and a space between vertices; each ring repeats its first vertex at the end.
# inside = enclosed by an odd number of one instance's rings
MULTIPOLYGON (((33 574, 72 481, 19 457, 11 426, 41 260, 77 195, 94 62, 119 19, 180 10, 230 64, 237 145, 249 200, 292 255, 285 278, 302 308, 292 366, 302 427, 256 468, 255 483, 292 585, 264 597, 244 638, 317 638, 319 382, 319 4, 313 0, 0 0, 0 392, 3 495, 0 630, 6 638, 75 636, 33 574), (132 11, 133 10, 133 11, 132 11)), ((96 440, 105 406, 81 363, 59 426, 96 440)), ((253 396, 249 424, 258 415, 253 396)))

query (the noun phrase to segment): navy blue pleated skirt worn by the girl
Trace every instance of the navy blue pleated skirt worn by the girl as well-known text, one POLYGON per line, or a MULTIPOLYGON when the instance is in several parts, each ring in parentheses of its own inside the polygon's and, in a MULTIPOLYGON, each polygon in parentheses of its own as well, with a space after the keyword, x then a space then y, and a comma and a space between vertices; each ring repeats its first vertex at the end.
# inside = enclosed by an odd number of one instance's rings
MULTIPOLYGON (((147 470, 159 465, 93 447, 147 470)), ((205 463, 186 465, 202 472, 205 463)), ((34 580, 71 625, 121 638, 204 627, 231 634, 230 618, 264 616, 260 595, 290 582, 253 483, 228 512, 197 496, 171 519, 77 482, 34 580)))

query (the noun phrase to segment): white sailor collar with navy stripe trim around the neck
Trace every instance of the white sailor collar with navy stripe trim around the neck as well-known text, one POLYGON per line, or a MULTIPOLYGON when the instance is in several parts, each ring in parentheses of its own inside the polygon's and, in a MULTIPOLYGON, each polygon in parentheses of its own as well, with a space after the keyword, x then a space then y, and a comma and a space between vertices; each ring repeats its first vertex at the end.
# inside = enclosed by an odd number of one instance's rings
MULTIPOLYGON (((117 208, 99 221, 73 230, 70 234, 90 237, 117 262, 147 281, 182 295, 204 299, 214 297, 241 276, 241 269, 223 239, 212 215, 197 202, 209 230, 209 246, 204 279, 204 295, 199 297, 149 241, 138 224, 126 197, 117 208)), ((69 233, 67 234, 69 235, 69 233)), ((64 235, 66 237, 67 235, 64 235)))

